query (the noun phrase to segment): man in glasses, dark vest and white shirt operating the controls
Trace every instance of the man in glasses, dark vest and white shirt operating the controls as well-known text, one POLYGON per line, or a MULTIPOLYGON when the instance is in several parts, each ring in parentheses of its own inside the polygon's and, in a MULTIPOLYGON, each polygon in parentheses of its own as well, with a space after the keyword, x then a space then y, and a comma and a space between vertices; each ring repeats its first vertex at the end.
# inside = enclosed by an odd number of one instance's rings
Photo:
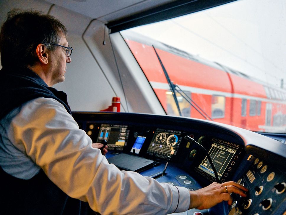
POLYGON ((246 196, 235 182, 189 192, 108 164, 51 87, 72 52, 56 18, 10 12, 0 51, 0 214, 169 214, 246 196))

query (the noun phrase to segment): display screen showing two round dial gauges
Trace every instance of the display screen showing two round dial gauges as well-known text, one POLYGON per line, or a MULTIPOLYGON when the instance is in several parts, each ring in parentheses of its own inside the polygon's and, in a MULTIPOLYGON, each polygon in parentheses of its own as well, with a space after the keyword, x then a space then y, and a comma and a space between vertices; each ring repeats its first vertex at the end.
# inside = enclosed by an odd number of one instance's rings
POLYGON ((181 131, 157 129, 148 147, 148 153, 159 158, 176 155, 182 137, 181 131))

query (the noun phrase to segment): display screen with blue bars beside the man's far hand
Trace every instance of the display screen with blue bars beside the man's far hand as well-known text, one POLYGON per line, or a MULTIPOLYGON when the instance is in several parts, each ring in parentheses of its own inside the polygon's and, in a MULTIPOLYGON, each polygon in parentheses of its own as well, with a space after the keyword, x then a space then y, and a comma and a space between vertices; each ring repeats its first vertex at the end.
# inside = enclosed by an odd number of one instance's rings
POLYGON ((123 150, 123 147, 127 145, 128 136, 129 130, 126 125, 102 124, 98 133, 97 142, 101 142, 105 139, 108 143, 108 149, 123 150))

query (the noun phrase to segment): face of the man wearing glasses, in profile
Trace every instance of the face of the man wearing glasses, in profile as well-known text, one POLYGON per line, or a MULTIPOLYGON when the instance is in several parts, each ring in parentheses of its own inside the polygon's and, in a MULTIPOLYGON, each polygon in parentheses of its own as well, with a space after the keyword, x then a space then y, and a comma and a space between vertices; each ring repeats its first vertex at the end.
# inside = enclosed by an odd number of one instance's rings
MULTIPOLYGON (((68 47, 69 44, 63 34, 60 36, 58 45, 68 47)), ((66 56, 66 48, 56 46, 56 49, 50 52, 51 69, 49 71, 50 86, 64 82, 66 73, 66 63, 71 62, 71 58, 66 56)))

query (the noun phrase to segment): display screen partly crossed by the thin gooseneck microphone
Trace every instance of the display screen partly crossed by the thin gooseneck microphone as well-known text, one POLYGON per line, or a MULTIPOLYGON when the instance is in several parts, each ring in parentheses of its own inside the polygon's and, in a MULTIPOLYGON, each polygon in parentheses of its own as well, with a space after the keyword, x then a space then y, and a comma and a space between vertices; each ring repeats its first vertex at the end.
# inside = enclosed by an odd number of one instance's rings
MULTIPOLYGON (((209 155, 212 158, 212 162, 215 165, 215 170, 217 171, 218 178, 220 179, 225 169, 229 165, 231 159, 233 158, 236 150, 220 145, 217 143, 212 143, 212 147, 209 150, 209 155)), ((207 159, 207 156, 204 158, 202 163, 199 165, 199 169, 206 172, 207 174, 215 177, 214 171, 207 159)))

